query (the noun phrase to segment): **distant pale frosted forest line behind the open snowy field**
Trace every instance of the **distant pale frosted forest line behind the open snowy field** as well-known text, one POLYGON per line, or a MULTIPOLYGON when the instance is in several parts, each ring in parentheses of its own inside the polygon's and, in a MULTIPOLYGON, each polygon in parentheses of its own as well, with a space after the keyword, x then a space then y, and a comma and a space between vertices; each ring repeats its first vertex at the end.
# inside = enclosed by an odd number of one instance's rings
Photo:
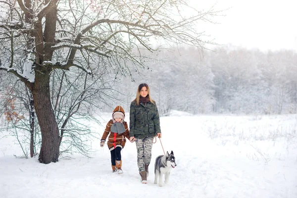
POLYGON ((203 53, 180 48, 154 55, 163 61, 149 63, 136 83, 122 78, 123 85, 116 85, 132 95, 122 98, 128 105, 138 84, 147 82, 162 115, 172 109, 194 114, 297 113, 296 51, 226 46, 203 53))

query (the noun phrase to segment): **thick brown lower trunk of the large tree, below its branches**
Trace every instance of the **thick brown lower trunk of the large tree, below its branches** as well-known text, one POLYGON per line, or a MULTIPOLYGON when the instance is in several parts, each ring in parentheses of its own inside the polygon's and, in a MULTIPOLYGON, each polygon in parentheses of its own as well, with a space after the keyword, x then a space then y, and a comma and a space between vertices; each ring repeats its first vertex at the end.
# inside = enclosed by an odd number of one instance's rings
POLYGON ((59 156, 59 129, 50 102, 49 73, 50 71, 35 73, 32 92, 42 136, 39 161, 45 164, 57 162, 59 156))

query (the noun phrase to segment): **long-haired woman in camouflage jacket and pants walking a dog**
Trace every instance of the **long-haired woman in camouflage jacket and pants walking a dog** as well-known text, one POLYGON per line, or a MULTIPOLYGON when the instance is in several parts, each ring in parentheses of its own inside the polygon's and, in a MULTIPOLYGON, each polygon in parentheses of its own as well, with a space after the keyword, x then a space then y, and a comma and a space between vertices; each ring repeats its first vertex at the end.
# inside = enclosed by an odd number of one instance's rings
POLYGON ((161 138, 157 105, 150 98, 148 85, 140 84, 130 105, 130 141, 136 141, 137 164, 144 184, 147 184, 152 139, 156 135, 161 138))

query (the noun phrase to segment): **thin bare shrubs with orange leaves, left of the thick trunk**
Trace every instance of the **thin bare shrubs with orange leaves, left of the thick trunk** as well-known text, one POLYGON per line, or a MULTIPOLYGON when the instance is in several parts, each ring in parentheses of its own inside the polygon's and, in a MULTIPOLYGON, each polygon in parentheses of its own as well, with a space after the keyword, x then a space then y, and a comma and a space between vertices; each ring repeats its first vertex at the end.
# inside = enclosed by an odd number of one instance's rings
MULTIPOLYGON (((8 82, 8 80, 7 80, 8 82)), ((36 128, 34 103, 32 94, 19 81, 14 84, 4 84, 5 91, 0 97, 0 114, 5 118, 7 125, 1 125, 0 130, 8 132, 5 136, 15 137, 24 154, 28 157, 28 146, 30 157, 37 153, 40 147, 39 132, 36 128)))

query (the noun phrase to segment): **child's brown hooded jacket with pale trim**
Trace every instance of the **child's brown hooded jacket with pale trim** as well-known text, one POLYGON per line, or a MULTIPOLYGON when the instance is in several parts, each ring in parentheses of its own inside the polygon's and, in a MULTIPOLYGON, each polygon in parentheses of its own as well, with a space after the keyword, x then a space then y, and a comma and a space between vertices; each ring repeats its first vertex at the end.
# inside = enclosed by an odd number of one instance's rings
MULTIPOLYGON (((122 112, 125 116, 125 111, 121 106, 115 107, 115 109, 113 110, 113 113, 116 111, 122 112)), ((112 116, 113 116, 113 113, 112 113, 112 116)), ((130 138, 127 122, 123 121, 123 123, 122 123, 126 129, 126 131, 122 134, 117 134, 117 133, 113 133, 110 131, 110 127, 113 125, 114 122, 115 122, 114 119, 109 120, 109 122, 106 124, 104 133, 101 138, 101 140, 105 141, 109 134, 108 141, 107 141, 107 146, 108 146, 109 150, 113 150, 116 147, 124 148, 125 144, 126 144, 126 138, 128 138, 128 140, 130 138)))

